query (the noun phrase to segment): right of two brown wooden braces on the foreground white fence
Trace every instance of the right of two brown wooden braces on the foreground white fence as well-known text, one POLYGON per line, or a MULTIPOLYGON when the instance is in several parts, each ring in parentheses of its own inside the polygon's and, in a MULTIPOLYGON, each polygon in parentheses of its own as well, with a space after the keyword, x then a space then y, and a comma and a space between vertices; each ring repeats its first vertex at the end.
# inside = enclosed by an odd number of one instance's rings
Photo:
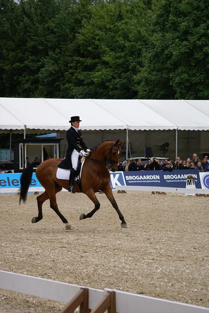
POLYGON ((115 291, 108 291, 102 300, 95 306, 91 313, 116 313, 115 291))

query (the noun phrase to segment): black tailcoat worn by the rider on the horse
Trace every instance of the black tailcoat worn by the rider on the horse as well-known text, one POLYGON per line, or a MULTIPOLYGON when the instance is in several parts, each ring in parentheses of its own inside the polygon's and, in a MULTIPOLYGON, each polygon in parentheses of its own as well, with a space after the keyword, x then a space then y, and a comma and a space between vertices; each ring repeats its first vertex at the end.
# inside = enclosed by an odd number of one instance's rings
POLYGON ((62 162, 58 165, 58 167, 70 169, 72 168, 71 154, 73 150, 75 149, 76 151, 80 152, 81 150, 88 149, 88 147, 85 145, 85 142, 82 139, 81 132, 77 132, 73 127, 68 129, 66 137, 68 142, 67 155, 65 159, 63 159, 62 162))

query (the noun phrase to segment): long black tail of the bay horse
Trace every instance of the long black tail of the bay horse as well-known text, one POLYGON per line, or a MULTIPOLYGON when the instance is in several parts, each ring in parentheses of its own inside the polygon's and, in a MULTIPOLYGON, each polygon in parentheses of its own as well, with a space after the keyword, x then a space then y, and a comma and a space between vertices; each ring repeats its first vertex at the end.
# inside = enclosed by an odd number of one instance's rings
POLYGON ((21 204, 21 201, 23 201, 23 203, 26 203, 27 192, 31 184, 32 175, 33 175, 33 167, 34 165, 39 165, 39 164, 41 164, 41 162, 37 162, 37 161, 28 164, 28 166, 24 169, 24 171, 22 172, 20 176, 21 187, 18 190, 18 194, 20 195, 19 205, 21 204))

